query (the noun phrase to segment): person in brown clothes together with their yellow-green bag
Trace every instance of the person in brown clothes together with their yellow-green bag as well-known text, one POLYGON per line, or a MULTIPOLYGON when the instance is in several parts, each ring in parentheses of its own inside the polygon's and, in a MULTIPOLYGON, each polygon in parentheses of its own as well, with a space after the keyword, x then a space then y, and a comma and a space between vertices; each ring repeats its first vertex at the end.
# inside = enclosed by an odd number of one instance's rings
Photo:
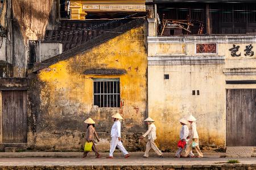
POLYGON ((84 147, 84 155, 82 158, 86 158, 88 153, 93 150, 93 152, 96 155, 96 158, 101 158, 101 155, 98 153, 97 148, 94 143, 94 135, 98 142, 100 142, 100 139, 98 138, 98 135, 96 133, 96 130, 94 129, 95 122, 92 120, 92 118, 88 118, 85 121, 85 124, 87 124, 87 130, 86 130, 86 142, 84 147))

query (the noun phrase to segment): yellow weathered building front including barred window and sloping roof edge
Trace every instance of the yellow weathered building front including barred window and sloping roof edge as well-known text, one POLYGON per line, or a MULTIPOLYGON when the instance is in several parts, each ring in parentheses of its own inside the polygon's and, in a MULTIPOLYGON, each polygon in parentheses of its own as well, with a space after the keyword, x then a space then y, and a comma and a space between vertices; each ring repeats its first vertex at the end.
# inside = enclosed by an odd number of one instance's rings
POLYGON ((112 115, 123 116, 123 143, 143 145, 147 106, 147 53, 144 19, 133 20, 32 68, 28 147, 80 150, 86 124, 96 121, 97 147, 109 150, 112 115))

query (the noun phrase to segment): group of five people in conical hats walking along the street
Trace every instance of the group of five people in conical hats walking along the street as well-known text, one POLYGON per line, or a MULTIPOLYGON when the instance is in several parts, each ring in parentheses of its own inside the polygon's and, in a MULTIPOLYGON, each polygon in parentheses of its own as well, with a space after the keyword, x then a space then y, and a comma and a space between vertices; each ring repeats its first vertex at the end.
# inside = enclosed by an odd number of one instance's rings
MULTIPOLYGON (((110 142, 110 151, 109 156, 107 158, 112 159, 113 153, 115 151, 115 148, 118 147, 118 149, 122 152, 122 154, 125 156, 125 158, 129 158, 130 155, 126 151, 125 147, 122 144, 121 140, 121 122, 119 120, 122 120, 122 116, 117 113, 113 116, 114 124, 111 129, 111 142, 110 142)), ((188 116, 187 118, 181 118, 180 124, 181 130, 180 130, 180 141, 183 143, 182 146, 178 145, 178 150, 175 154, 175 158, 183 158, 183 157, 203 157, 202 152, 199 148, 199 135, 196 130, 196 124, 195 124, 196 118, 192 115, 188 116), (189 127, 188 127, 189 125, 189 127), (192 152, 192 148, 195 148, 198 156, 195 156, 192 152), (181 152, 185 149, 185 154, 181 155, 181 152)), ((97 151, 97 148, 94 143, 94 136, 96 137, 97 141, 100 142, 100 139, 98 138, 98 135, 96 133, 96 130, 94 129, 95 122, 92 120, 92 118, 88 118, 84 121, 87 124, 87 130, 86 130, 86 142, 92 142, 92 150, 94 151, 96 158, 101 158, 100 153, 97 151)), ((155 144, 156 139, 156 126, 154 125, 154 120, 152 118, 148 117, 144 122, 148 125, 148 130, 146 133, 144 133, 140 138, 146 138, 147 137, 147 145, 146 145, 146 151, 144 152, 143 158, 148 158, 148 153, 151 150, 151 148, 158 154, 159 158, 163 158, 162 151, 159 150, 159 148, 155 144)), ((86 158, 88 155, 88 151, 84 152, 83 158, 86 158)))

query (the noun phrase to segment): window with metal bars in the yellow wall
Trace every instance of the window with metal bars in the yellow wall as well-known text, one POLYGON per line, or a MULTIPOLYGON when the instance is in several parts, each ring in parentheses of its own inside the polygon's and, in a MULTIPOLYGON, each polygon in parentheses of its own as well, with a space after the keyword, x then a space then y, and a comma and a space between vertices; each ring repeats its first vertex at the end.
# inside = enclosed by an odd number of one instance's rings
POLYGON ((95 79, 93 82, 93 103, 100 108, 119 108, 119 79, 95 79))

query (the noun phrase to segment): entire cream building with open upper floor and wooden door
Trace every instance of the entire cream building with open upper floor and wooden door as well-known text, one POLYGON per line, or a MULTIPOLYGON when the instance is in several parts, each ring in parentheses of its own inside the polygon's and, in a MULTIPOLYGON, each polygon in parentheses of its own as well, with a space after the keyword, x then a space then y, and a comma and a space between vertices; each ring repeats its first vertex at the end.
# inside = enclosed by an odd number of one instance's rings
POLYGON ((188 114, 202 146, 256 145, 255 3, 207 2, 146 2, 148 114, 163 150, 188 114))

